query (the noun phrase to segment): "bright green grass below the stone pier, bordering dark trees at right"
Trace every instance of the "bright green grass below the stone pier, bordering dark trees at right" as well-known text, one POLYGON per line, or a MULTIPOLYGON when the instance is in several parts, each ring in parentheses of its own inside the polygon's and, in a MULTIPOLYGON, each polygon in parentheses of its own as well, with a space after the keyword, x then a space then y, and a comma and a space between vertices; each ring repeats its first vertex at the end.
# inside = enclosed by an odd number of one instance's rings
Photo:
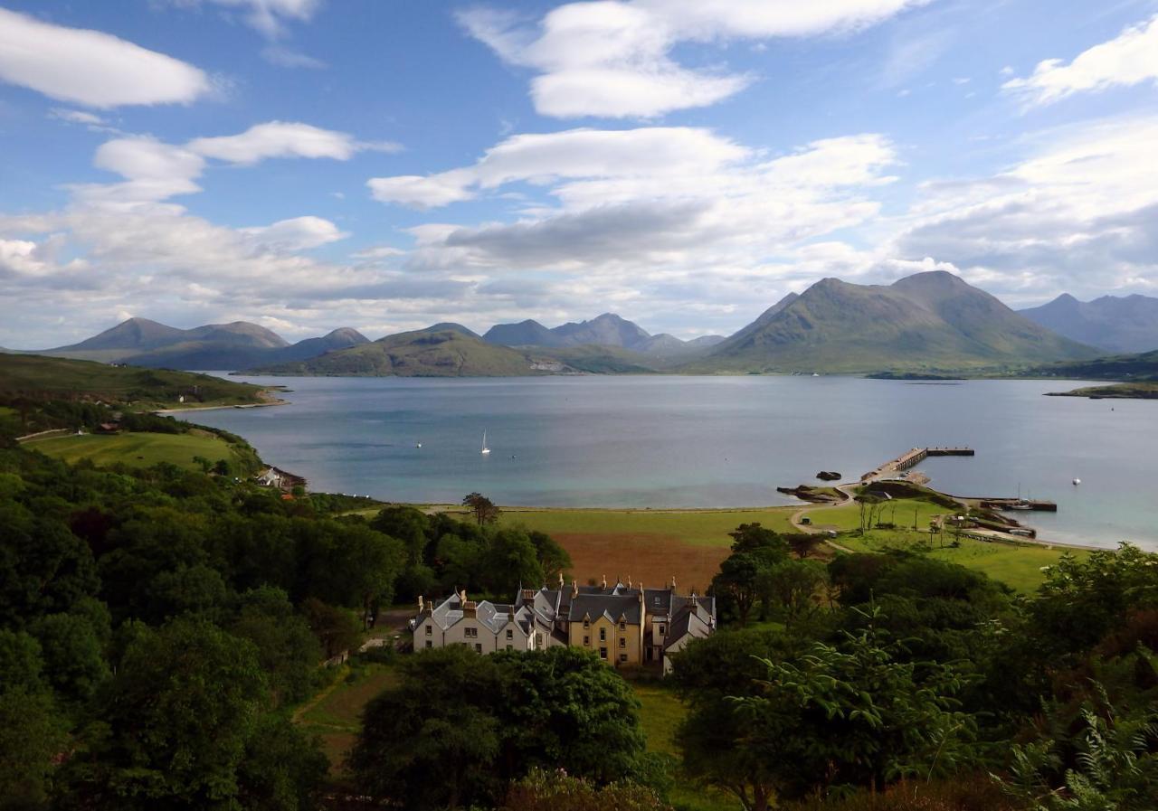
MULTIPOLYGON (((842 534, 836 543, 857 552, 882 552, 887 548, 908 547, 924 550, 929 547, 929 533, 911 530, 874 530, 864 538, 842 534)), ((1023 592, 1036 589, 1045 580, 1041 567, 1053 566, 1065 552, 1079 559, 1089 554, 1085 550, 1048 548, 1035 544, 987 543, 972 538, 961 538, 961 545, 957 548, 950 546, 939 548, 938 543, 933 543, 933 548, 929 552, 931 556, 983 572, 994 580, 999 580, 1023 592)), ((945 543, 950 543, 947 532, 945 543)))

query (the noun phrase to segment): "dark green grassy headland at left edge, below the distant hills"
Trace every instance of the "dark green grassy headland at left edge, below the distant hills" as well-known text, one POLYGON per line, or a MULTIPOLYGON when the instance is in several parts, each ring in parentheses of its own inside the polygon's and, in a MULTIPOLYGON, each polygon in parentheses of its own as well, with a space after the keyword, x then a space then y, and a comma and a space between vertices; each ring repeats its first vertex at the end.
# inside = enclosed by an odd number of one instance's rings
POLYGON ((261 386, 167 369, 113 367, 38 355, 0 354, 0 396, 98 399, 140 408, 259 403, 261 386), (195 396, 196 388, 196 396, 195 396))

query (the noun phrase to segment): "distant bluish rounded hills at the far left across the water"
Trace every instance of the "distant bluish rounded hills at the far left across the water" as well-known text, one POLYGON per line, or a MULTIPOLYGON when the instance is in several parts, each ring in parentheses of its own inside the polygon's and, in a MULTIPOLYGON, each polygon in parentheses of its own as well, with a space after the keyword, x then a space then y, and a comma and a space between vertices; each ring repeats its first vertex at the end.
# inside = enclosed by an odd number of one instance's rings
POLYGON ((321 338, 290 344, 257 324, 233 322, 178 330, 147 318, 130 318, 87 340, 31 354, 170 369, 237 369, 315 357, 368 339, 343 327, 321 338))

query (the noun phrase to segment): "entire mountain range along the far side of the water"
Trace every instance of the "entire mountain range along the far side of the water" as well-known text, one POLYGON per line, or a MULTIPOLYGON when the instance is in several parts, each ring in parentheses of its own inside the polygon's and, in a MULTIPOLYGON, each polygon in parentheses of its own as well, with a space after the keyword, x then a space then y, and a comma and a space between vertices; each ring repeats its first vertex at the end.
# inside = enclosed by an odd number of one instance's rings
MULTIPOLYGON (((732 336, 690 341, 653 336, 610 312, 551 329, 529 319, 496 324, 482 336, 461 324, 439 323, 369 341, 347 327, 292 345, 245 322, 177 330, 131 318, 80 344, 37 354, 286 375, 1001 373, 1089 361, 1106 354, 1099 346, 1120 346, 1106 338, 1098 345, 1068 336, 1069 322, 1056 330, 1036 323, 1048 317, 1042 311, 1072 310, 1075 302, 1078 311, 1105 312, 1114 302, 1127 302, 1139 314, 1130 322, 1131 334, 1141 336, 1148 302, 1156 301, 1067 300, 1019 314, 960 278, 935 271, 892 285, 822 279, 786 295, 732 336)), ((1089 316, 1086 322, 1108 330, 1113 318, 1089 316)), ((1156 323, 1151 318, 1149 327, 1156 323)))

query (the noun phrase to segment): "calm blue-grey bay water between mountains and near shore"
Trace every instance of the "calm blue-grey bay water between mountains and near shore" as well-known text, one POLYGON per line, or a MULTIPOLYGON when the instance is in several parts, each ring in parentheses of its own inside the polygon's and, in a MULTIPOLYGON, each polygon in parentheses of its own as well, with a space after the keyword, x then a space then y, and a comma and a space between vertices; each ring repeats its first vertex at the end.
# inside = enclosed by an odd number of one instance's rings
MULTIPOLYGON (((236 379, 236 378, 235 378, 236 379)), ((958 495, 1051 499, 1042 537, 1158 548, 1158 403, 1042 397, 1063 381, 851 377, 270 378, 290 406, 210 411, 316 489, 560 507, 796 503, 777 486, 859 477, 911 447, 958 495), (492 452, 481 455, 483 430, 492 452), (422 442, 423 447, 416 448, 422 442), (1071 479, 1079 477, 1082 486, 1071 479)))

